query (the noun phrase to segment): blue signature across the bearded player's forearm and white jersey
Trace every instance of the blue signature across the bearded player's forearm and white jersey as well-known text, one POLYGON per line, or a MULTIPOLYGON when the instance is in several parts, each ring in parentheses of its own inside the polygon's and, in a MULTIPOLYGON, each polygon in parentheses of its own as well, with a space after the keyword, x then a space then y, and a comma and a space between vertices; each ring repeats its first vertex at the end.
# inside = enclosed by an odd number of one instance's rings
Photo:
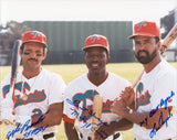
MULTIPOLYGON (((167 109, 167 104, 168 104, 168 101, 171 99, 171 97, 173 96, 175 96, 175 93, 174 91, 170 91, 170 95, 166 98, 166 99, 160 99, 160 103, 157 105, 157 107, 156 107, 156 109, 153 109, 150 112, 149 112, 149 118, 150 117, 153 117, 155 114, 156 114, 156 111, 159 109, 159 108, 162 108, 162 107, 165 107, 165 109, 167 109)), ((154 123, 154 127, 153 127, 153 129, 152 129, 152 131, 150 131, 150 133, 149 133, 149 137, 150 138, 153 138, 155 134, 156 134, 156 132, 162 128, 162 126, 164 125, 164 123, 166 123, 166 127, 168 127, 168 120, 170 119, 170 117, 173 117, 173 114, 170 112, 170 110, 168 109, 168 112, 169 112, 169 115, 168 115, 168 117, 163 121, 163 112, 160 112, 160 116, 159 116, 159 119, 158 119, 158 128, 156 128, 157 127, 157 123, 155 122, 154 123)), ((147 118, 148 117, 146 117, 145 118, 145 120, 143 120, 142 122, 139 122, 140 123, 140 127, 145 123, 146 126, 147 126, 147 118)))

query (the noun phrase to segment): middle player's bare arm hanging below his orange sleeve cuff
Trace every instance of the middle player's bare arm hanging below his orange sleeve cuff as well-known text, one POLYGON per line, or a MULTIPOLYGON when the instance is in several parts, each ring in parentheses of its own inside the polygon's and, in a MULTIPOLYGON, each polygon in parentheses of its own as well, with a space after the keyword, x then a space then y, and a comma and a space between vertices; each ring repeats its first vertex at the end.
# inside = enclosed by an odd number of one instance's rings
POLYGON ((74 123, 64 121, 64 130, 65 130, 67 140, 79 140, 79 134, 76 132, 74 123))

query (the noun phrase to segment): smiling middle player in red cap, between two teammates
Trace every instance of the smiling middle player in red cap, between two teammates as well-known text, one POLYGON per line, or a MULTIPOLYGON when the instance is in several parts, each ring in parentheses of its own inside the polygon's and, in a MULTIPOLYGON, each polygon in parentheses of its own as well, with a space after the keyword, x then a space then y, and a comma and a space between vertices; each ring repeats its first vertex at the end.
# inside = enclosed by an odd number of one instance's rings
POLYGON ((69 140, 91 140, 92 131, 98 128, 95 140, 100 138, 122 140, 118 131, 132 128, 132 123, 112 114, 111 105, 129 83, 106 71, 106 64, 111 57, 108 41, 105 36, 90 35, 82 50, 88 73, 71 82, 65 89, 63 120, 66 137, 69 140), (92 106, 95 95, 103 97, 103 109, 101 123, 95 123, 95 128, 92 128, 91 117, 94 116, 92 106))

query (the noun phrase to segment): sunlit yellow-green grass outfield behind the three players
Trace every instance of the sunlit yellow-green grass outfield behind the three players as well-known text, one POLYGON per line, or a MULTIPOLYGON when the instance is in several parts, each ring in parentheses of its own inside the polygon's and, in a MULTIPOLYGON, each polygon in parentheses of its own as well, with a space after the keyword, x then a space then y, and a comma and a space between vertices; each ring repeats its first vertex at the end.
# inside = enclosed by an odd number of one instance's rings
MULTIPOLYGON (((177 63, 170 64, 177 68, 177 63)), ((66 84, 87 72, 85 64, 43 65, 43 67, 51 72, 60 74, 66 84)), ((143 66, 139 63, 112 63, 107 65, 107 71, 128 79, 131 83, 136 79, 142 69, 143 66)), ((4 76, 10 73, 10 66, 1 66, 0 80, 2 80, 4 76)), ((4 126, 1 126, 0 130, 0 140, 4 140, 4 126)), ((58 140, 66 140, 63 122, 58 127, 58 140)), ((128 131, 123 131, 121 133, 123 134, 123 140, 134 140, 132 129, 128 131)))

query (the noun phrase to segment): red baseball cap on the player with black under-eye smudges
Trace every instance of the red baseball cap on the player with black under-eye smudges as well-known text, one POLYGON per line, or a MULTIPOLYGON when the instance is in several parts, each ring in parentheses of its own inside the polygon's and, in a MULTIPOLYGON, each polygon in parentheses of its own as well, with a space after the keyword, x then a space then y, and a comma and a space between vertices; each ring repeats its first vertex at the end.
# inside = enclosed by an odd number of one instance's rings
POLYGON ((40 31, 29 31, 29 32, 25 32, 24 35, 23 35, 23 37, 22 37, 22 44, 21 44, 21 46, 24 43, 27 43, 27 42, 39 42, 39 43, 43 44, 44 47, 48 46, 48 44, 46 44, 46 37, 40 31))

